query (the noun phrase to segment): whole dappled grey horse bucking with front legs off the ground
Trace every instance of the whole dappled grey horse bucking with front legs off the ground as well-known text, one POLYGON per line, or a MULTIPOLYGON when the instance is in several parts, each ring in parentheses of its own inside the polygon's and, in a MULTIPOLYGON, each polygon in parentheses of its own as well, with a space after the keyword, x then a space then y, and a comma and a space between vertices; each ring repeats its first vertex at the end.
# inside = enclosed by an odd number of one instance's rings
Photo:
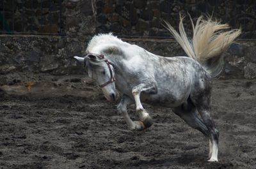
POLYGON ((84 65, 88 77, 101 87, 108 101, 115 101, 129 129, 142 130, 152 125, 143 103, 171 108, 189 126, 209 138, 208 161, 218 161, 219 131, 211 118, 212 78, 223 70, 223 52, 241 34, 227 24, 202 16, 193 27, 189 40, 180 16, 179 33, 166 22, 188 56, 163 57, 137 45, 120 40, 113 34, 93 36, 84 57, 75 56, 84 65), (127 106, 135 103, 140 121, 132 121, 127 106), (198 112, 198 113, 197 113, 198 112), (201 118, 200 118, 201 117, 201 118))

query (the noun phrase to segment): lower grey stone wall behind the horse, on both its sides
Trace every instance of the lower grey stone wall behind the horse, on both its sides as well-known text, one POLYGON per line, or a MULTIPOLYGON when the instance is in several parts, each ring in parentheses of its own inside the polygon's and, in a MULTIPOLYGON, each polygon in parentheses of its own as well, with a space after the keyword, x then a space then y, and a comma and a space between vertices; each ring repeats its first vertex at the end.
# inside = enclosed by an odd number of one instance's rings
MULTIPOLYGON (((157 55, 186 55, 173 40, 124 39, 157 55)), ((57 36, 0 36, 0 74, 32 71, 66 75, 83 73, 74 55, 86 50, 88 41, 57 36)), ((256 43, 238 41, 225 52, 222 78, 256 78, 256 43)))

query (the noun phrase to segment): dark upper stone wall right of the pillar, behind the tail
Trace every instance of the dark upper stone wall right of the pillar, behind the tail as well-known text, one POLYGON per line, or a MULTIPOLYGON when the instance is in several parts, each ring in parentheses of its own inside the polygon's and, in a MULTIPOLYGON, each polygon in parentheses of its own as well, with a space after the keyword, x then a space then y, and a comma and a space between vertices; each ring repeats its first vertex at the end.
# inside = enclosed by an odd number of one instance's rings
MULTIPOLYGON (((233 28, 243 29, 240 38, 256 38, 256 1, 240 0, 97 0, 97 32, 121 36, 170 36, 163 20, 177 27, 179 13, 190 13, 196 20, 202 13, 212 14, 233 28)), ((185 19, 189 28, 189 18, 185 19)))

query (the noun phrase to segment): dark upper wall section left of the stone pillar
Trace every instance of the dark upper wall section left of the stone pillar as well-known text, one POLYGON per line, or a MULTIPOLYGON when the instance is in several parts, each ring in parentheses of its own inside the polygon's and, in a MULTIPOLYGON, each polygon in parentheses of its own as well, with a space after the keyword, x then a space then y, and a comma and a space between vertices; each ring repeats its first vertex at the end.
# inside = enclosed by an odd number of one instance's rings
MULTIPOLYGON (((1 1, 0 30, 12 33, 65 33, 65 1, 1 1)), ((10 34, 12 34, 10 33, 10 34)))

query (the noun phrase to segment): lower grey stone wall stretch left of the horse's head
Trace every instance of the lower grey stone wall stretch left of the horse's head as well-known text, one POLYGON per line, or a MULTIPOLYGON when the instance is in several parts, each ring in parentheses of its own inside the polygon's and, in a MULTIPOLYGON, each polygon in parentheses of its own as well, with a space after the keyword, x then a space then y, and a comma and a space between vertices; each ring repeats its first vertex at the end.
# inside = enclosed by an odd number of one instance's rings
POLYGON ((76 38, 0 36, 0 74, 12 71, 83 73, 72 57, 81 55, 85 47, 86 42, 76 38))

